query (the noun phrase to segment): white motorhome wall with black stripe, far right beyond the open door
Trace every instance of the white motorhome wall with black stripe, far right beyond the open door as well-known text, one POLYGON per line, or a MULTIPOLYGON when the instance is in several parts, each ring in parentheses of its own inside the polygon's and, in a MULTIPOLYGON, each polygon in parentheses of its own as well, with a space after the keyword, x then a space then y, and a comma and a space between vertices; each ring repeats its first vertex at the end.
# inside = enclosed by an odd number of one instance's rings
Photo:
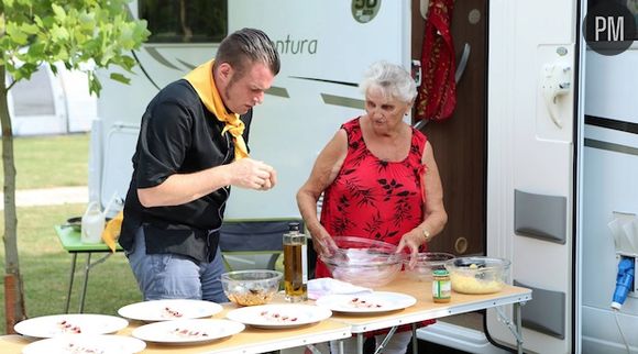
MULTIPOLYGON (((587 52, 586 63, 585 114, 638 124, 638 47, 617 56, 587 52)), ((638 151, 637 134, 585 125, 584 137, 602 142, 603 146, 616 144, 638 151)), ((592 147, 586 143, 583 155, 583 353, 627 353, 609 308, 618 261, 607 223, 614 211, 638 214, 638 155, 592 147)), ((619 322, 636 351, 636 295, 627 298, 619 322)))

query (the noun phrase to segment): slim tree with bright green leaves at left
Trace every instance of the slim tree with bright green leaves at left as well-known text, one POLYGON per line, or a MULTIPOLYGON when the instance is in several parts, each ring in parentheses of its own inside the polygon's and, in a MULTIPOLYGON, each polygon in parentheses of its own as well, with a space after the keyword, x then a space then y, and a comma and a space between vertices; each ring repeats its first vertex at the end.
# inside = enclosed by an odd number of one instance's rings
MULTIPOLYGON (((25 319, 24 291, 18 257, 15 165, 13 132, 7 95, 15 82, 29 79, 43 64, 87 73, 89 91, 99 95, 96 69, 120 67, 131 73, 135 60, 129 51, 150 32, 145 21, 131 20, 130 0, 1 0, 0 8, 0 123, 4 172, 4 303, 7 332, 25 319), (6 80, 6 77, 10 80, 6 80)), ((121 74, 112 79, 128 84, 121 74)))

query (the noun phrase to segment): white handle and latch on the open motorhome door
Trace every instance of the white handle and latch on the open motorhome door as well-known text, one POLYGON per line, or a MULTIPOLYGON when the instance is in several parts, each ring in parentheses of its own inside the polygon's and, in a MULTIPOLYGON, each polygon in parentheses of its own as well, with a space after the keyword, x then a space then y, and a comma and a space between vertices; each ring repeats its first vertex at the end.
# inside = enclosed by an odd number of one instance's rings
POLYGON ((552 122, 562 128, 558 106, 560 97, 568 95, 572 88, 572 67, 566 63, 547 64, 542 68, 541 90, 544 104, 552 122))

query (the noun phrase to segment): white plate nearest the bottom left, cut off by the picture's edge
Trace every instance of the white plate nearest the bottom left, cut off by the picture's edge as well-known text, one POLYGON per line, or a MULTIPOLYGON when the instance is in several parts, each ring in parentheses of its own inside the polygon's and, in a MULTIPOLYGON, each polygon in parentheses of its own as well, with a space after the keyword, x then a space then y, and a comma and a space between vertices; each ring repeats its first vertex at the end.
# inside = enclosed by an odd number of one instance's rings
POLYGON ((130 336, 75 334, 33 342, 22 349, 22 354, 133 354, 145 347, 146 343, 130 336))

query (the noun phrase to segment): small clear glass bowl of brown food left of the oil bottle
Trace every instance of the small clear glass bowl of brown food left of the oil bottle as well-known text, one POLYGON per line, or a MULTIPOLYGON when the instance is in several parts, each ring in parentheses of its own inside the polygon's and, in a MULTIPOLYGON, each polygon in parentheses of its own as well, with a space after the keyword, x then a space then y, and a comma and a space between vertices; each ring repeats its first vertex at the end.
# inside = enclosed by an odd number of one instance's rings
POLYGON ((268 303, 279 290, 283 274, 277 270, 238 270, 221 275, 223 292, 240 306, 268 303))

